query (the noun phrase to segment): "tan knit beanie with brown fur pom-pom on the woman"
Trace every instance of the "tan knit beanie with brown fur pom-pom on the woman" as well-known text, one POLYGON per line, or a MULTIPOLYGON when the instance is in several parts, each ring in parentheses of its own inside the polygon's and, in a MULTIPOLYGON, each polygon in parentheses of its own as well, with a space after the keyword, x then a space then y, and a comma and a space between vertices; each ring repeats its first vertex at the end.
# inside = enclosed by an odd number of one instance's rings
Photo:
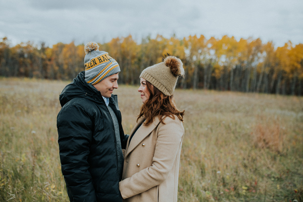
POLYGON ((162 63, 147 67, 140 75, 165 95, 173 94, 178 77, 184 77, 182 61, 170 55, 165 55, 162 63))

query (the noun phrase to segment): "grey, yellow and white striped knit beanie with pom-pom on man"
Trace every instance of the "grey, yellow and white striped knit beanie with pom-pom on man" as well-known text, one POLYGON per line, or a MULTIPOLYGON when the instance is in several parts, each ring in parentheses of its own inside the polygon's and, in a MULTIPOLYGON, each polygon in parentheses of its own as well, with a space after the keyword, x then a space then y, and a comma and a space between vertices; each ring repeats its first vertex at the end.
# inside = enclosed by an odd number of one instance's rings
POLYGON ((84 47, 85 81, 97 84, 108 76, 120 72, 119 64, 107 52, 99 51, 96 42, 88 42, 84 47))

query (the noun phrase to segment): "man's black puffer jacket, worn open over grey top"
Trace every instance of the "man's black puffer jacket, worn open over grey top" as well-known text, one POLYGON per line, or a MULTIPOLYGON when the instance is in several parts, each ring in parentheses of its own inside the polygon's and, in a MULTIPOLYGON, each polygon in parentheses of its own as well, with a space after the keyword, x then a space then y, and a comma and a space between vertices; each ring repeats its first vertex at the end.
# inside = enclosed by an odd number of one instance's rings
MULTIPOLYGON (((102 95, 80 72, 61 95, 57 117, 62 173, 71 201, 122 201, 119 191, 116 136, 102 95)), ((110 106, 117 115, 122 147, 124 135, 117 95, 110 106)))

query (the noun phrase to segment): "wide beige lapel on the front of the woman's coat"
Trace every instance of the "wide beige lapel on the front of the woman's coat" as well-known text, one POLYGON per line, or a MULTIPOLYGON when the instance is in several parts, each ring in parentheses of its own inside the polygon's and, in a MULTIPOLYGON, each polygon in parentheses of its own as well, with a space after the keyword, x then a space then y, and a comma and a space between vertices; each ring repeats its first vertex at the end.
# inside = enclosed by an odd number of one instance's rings
POLYGON ((145 119, 141 118, 138 123, 136 124, 136 126, 132 129, 131 131, 131 135, 135 135, 131 141, 129 142, 128 138, 128 148, 126 151, 126 155, 125 158, 127 157, 127 155, 147 136, 151 133, 151 131, 153 131, 160 123, 160 120, 158 117, 155 118, 154 122, 149 124, 148 126, 143 126, 141 125, 140 128, 138 128, 138 130, 135 132, 135 134, 133 134, 133 132, 135 131, 135 129, 142 123, 144 122, 145 119))

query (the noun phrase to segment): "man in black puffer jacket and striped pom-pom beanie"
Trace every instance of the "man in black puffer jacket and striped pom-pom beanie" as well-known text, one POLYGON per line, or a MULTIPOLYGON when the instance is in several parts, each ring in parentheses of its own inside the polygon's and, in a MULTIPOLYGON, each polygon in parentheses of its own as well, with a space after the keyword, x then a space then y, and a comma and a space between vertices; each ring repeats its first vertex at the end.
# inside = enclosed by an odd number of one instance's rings
POLYGON ((85 45, 85 71, 60 94, 57 117, 62 173, 70 201, 122 201, 119 181, 128 135, 117 95, 119 64, 95 42, 85 45))

